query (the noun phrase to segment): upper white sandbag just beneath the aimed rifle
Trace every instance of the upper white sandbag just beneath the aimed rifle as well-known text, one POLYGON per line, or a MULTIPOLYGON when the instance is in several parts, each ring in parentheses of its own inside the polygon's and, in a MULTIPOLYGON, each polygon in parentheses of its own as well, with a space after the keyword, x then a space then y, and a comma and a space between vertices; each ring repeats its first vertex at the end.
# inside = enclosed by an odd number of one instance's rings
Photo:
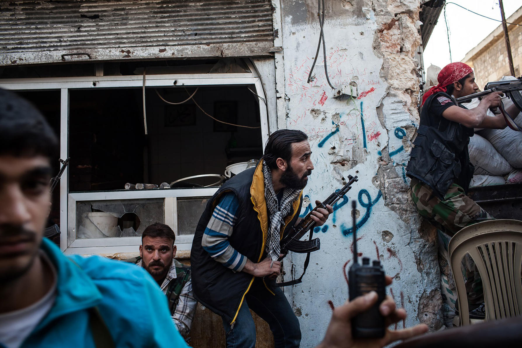
MULTIPOLYGON (((513 105, 511 99, 506 98, 503 101, 506 109, 513 105)), ((522 112, 515 118, 515 122, 522 124, 522 112)), ((522 169, 522 131, 506 127, 504 129, 482 129, 478 134, 488 139, 512 167, 522 169)))

